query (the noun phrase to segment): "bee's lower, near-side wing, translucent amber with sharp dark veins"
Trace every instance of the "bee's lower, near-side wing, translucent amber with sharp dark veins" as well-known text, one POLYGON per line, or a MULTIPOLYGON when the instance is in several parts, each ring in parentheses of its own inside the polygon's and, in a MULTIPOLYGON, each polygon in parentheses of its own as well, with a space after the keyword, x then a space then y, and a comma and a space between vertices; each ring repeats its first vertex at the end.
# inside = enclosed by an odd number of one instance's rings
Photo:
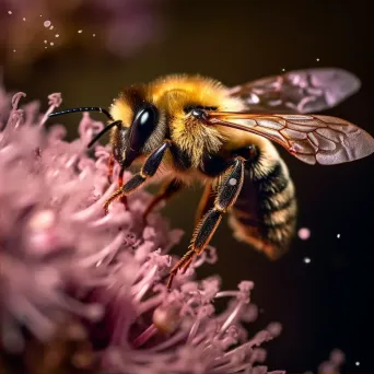
POLYGON ((207 112, 207 124, 231 127, 270 139, 307 164, 340 164, 374 152, 372 136, 336 117, 207 112))

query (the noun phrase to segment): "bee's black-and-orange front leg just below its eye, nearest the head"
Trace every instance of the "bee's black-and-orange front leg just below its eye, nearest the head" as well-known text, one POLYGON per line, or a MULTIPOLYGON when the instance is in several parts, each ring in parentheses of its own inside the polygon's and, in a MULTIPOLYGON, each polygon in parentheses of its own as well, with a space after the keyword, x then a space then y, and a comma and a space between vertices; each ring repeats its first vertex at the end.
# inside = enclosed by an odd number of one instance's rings
MULTIPOLYGON (((136 191, 139 187, 141 187, 144 182, 152 177, 161 162, 162 159, 166 152, 166 150, 172 145, 172 142, 170 140, 166 140, 162 145, 160 145, 155 151, 151 153, 151 155, 145 160, 143 166, 141 167, 140 172, 132 176, 130 180, 128 180, 125 185, 120 186, 104 203, 104 210, 105 212, 108 211, 109 204, 121 198, 126 197, 128 195, 131 195, 133 191, 136 191)), ((120 173, 120 176, 122 173, 120 173)))

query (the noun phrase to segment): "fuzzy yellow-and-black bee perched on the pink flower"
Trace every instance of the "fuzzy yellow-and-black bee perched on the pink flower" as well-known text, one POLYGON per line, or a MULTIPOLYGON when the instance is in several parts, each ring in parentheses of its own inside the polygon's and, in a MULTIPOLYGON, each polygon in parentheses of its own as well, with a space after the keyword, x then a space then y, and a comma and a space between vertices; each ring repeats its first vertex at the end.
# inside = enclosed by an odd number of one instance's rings
POLYGON ((340 69, 291 71, 226 87, 200 75, 167 75, 125 89, 109 110, 80 107, 51 114, 102 112, 109 122, 114 160, 121 165, 118 189, 105 210, 150 178, 164 185, 144 212, 199 180, 204 186, 188 252, 172 268, 185 271, 200 255, 223 215, 234 236, 270 259, 284 254, 295 232, 297 206, 289 170, 272 142, 307 164, 331 165, 365 157, 374 139, 355 125, 309 113, 331 108, 360 87, 340 69), (122 184, 122 172, 141 164, 122 184))

